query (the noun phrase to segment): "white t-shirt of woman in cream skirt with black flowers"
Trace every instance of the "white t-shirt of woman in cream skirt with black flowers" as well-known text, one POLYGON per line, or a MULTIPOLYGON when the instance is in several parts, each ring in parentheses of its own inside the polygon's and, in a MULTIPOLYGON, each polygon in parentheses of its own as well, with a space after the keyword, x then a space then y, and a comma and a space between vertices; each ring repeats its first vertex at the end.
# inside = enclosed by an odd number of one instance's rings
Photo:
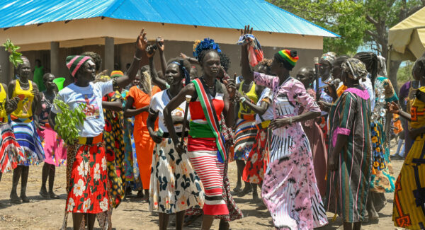
MULTIPOLYGON (((168 129, 165 126, 164 122, 164 108, 170 102, 171 98, 169 97, 167 90, 156 93, 150 103, 150 110, 153 110, 155 113, 158 113, 158 127, 161 128, 162 131, 168 132, 168 129)), ((186 108, 186 101, 183 101, 181 105, 179 105, 175 110, 171 112, 172 116, 184 117, 184 110, 186 108)), ((188 120, 190 120, 190 113, 188 111, 188 120)), ((182 131, 183 125, 174 125, 174 129, 176 132, 182 131)))

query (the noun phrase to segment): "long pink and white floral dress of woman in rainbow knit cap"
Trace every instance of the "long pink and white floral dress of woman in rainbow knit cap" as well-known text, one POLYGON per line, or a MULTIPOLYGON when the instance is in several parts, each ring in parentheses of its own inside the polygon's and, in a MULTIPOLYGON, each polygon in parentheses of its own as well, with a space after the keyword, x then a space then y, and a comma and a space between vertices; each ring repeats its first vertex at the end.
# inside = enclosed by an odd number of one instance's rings
MULTIPOLYGON (((300 81, 254 72, 256 84, 273 91, 274 119, 293 117, 300 110, 320 112, 300 81)), ((317 189, 310 144, 300 122, 273 130, 270 163, 261 195, 276 229, 313 229, 327 224, 317 189)))

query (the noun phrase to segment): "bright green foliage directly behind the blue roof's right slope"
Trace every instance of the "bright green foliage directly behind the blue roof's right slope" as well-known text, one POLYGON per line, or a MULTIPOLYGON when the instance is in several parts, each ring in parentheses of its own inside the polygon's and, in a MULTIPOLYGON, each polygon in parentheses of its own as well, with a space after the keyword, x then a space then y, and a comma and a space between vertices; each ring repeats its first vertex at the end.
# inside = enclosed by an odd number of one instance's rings
POLYGON ((267 0, 280 8, 305 18, 341 38, 324 38, 323 51, 354 54, 363 45, 367 27, 363 1, 347 0, 267 0))

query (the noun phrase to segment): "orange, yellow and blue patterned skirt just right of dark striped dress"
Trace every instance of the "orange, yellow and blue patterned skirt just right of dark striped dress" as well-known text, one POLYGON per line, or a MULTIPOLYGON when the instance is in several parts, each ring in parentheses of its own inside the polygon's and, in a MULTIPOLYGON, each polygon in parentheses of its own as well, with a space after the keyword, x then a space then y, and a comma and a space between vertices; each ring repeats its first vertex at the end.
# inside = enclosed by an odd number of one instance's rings
POLYGON ((370 130, 373 153, 370 192, 394 192, 395 178, 390 161, 390 149, 384 146, 385 132, 382 122, 370 122, 370 130))

